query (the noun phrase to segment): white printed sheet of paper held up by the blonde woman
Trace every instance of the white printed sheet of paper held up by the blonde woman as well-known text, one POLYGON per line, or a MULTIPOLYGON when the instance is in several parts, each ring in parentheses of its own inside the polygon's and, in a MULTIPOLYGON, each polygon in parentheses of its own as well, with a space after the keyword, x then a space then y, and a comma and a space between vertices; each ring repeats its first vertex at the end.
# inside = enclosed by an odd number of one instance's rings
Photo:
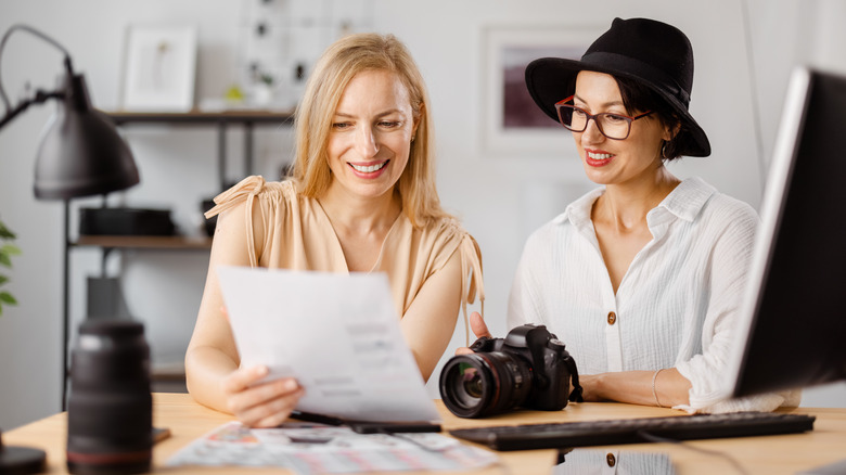
POLYGON ((305 387, 297 409, 364 421, 437 421, 399 329, 387 277, 218 268, 241 365, 305 387))

